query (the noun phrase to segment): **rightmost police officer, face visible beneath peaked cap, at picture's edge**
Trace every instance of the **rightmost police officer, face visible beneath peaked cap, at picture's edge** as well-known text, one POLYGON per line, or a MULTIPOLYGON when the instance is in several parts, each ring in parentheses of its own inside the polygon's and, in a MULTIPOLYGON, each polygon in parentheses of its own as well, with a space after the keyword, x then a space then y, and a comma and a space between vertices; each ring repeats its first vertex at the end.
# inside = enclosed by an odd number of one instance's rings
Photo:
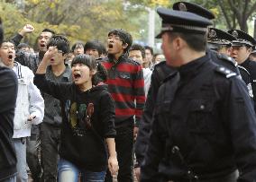
MULTIPOLYGON (((251 61, 249 58, 252 47, 256 44, 256 40, 242 30, 229 30, 228 32, 237 39, 233 40, 231 56, 233 56, 238 65, 242 65, 248 70, 253 96, 256 96, 256 62, 251 61)), ((256 97, 253 97, 253 100, 254 108, 256 108, 256 97)))

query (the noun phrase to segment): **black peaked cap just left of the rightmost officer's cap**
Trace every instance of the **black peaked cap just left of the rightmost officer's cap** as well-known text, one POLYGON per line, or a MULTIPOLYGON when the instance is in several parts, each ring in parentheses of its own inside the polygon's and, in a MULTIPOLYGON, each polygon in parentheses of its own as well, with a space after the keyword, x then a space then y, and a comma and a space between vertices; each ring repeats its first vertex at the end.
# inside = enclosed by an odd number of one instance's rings
POLYGON ((219 46, 232 46, 232 41, 236 40, 233 35, 224 30, 209 28, 207 41, 209 48, 219 48, 219 46))

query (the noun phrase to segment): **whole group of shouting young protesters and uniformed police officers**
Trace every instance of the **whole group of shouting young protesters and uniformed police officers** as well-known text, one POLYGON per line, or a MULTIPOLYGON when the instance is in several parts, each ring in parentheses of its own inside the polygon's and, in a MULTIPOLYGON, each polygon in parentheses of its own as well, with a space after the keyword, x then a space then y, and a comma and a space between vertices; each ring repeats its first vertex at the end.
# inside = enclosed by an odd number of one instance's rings
POLYGON ((0 182, 255 181, 256 40, 197 4, 157 12, 162 54, 0 27, 0 182))

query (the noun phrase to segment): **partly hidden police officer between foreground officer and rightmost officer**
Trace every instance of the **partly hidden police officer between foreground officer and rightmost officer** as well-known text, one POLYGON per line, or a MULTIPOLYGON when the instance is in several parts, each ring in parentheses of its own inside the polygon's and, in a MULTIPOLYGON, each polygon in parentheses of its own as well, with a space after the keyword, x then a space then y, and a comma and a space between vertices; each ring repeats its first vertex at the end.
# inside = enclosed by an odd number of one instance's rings
MULTIPOLYGON (((226 55, 228 59, 230 59, 232 62, 234 62, 237 65, 235 60, 232 57, 230 57, 232 52, 232 41, 235 41, 235 40, 236 39, 233 37, 233 35, 223 30, 218 30, 215 28, 209 28, 208 30, 208 34, 207 34, 208 48, 215 50, 218 53, 222 53, 226 55)), ((251 89, 250 74, 248 70, 246 70, 242 65, 238 65, 238 68, 239 68, 242 80, 247 85, 248 93, 252 99, 253 93, 251 89)))

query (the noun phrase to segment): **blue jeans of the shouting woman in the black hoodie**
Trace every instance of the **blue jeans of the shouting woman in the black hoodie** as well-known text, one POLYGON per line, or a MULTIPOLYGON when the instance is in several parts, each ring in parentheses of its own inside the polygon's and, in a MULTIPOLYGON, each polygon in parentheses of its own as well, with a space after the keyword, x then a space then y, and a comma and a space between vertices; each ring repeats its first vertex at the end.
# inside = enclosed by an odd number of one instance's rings
POLYGON ((104 182, 105 179, 105 171, 93 172, 88 170, 81 170, 68 160, 59 160, 59 182, 78 182, 80 173, 82 176, 82 182, 104 182))

